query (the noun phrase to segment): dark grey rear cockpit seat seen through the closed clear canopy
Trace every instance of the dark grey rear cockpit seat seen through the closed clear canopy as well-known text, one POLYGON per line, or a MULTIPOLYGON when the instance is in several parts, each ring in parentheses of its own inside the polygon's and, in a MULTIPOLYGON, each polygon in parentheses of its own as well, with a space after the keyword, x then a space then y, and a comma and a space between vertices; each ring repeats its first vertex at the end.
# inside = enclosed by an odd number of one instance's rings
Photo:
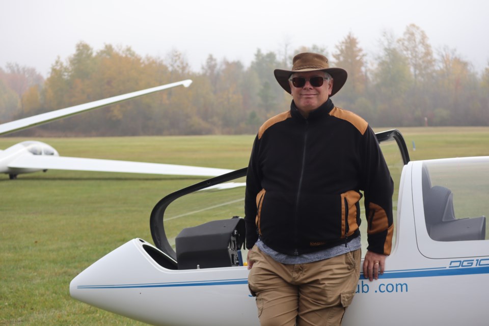
POLYGON ((457 219, 453 209, 453 194, 450 189, 439 185, 423 188, 426 229, 433 240, 485 239, 485 216, 457 219))

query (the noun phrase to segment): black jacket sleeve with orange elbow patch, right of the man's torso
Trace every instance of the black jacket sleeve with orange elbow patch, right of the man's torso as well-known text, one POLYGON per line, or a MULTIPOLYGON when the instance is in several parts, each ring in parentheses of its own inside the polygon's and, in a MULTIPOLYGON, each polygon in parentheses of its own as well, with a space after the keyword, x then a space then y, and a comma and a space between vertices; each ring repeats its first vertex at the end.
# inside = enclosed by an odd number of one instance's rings
POLYGON ((363 173, 361 187, 365 195, 367 250, 389 255, 394 225, 392 218, 392 181, 386 160, 375 137, 367 127, 363 135, 363 173))

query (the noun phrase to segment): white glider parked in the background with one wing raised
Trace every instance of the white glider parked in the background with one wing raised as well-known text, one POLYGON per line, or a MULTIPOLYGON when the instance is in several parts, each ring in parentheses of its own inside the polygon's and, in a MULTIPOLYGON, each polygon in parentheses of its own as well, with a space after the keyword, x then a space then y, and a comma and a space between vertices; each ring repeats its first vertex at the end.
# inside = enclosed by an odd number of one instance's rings
MULTIPOLYGON (((63 119, 75 114, 94 110, 102 106, 114 104, 127 99, 159 92, 176 86, 188 87, 192 80, 186 79, 177 83, 162 85, 138 92, 118 95, 90 103, 75 105, 61 110, 0 124, 0 135, 22 129, 31 128, 49 121, 63 119)), ((8 174, 10 179, 17 178, 23 173, 47 170, 76 170, 121 173, 146 173, 182 176, 219 176, 232 170, 204 167, 157 164, 147 162, 120 161, 108 159, 93 159, 80 157, 63 157, 52 146, 38 142, 25 141, 13 145, 4 151, 0 150, 0 173, 8 174)))

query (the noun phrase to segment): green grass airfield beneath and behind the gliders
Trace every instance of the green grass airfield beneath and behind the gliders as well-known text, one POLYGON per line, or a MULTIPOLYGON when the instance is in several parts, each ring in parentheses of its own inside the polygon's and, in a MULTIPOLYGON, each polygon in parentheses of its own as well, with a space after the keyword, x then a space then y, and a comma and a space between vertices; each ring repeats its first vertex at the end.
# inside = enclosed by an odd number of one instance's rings
MULTIPOLYGON (((385 128, 376 129, 380 130, 385 128)), ((489 155, 489 127, 400 130, 412 160, 489 155)), ((63 156, 238 169, 247 166, 253 139, 239 135, 37 140, 63 156)), ((0 139, 0 148, 23 140, 0 139)), ((0 325, 141 324, 73 300, 69 283, 132 238, 152 242, 153 206, 202 179, 69 171, 20 175, 17 180, 0 177, 0 325)))

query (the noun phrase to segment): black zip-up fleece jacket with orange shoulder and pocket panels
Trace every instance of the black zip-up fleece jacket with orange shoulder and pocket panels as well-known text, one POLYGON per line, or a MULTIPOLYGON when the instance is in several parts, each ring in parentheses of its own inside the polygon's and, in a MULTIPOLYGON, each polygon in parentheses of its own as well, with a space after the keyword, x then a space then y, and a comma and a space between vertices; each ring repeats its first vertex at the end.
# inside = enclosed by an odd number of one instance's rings
POLYGON ((373 130, 331 99, 305 119, 290 111, 266 121, 253 144, 245 198, 247 248, 258 236, 299 255, 360 234, 365 195, 368 250, 391 251, 393 181, 373 130))

